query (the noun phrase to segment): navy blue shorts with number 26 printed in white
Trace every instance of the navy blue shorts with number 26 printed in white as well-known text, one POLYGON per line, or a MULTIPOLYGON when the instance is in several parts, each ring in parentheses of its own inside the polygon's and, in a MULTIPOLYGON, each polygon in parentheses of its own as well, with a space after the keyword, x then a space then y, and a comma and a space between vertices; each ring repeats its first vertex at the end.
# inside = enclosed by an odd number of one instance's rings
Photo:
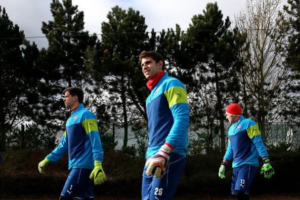
POLYGON ((142 182, 142 200, 146 199, 173 199, 181 178, 186 156, 171 153, 163 178, 147 176, 147 167, 144 167, 142 182))

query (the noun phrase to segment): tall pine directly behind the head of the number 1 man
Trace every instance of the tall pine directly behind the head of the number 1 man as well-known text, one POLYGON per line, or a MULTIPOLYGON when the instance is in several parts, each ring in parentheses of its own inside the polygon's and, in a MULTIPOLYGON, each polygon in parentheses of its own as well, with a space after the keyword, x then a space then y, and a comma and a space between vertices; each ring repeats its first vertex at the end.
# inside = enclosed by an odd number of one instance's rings
POLYGON ((42 79, 38 86, 40 104, 35 108, 36 122, 61 128, 69 115, 63 109, 62 92, 67 87, 82 88, 89 96, 93 80, 84 66, 85 52, 97 44, 97 35, 84 31, 84 14, 71 0, 53 0, 53 20, 42 22, 41 31, 49 42, 40 51, 38 65, 42 79), (89 90, 90 89, 90 90, 89 90))

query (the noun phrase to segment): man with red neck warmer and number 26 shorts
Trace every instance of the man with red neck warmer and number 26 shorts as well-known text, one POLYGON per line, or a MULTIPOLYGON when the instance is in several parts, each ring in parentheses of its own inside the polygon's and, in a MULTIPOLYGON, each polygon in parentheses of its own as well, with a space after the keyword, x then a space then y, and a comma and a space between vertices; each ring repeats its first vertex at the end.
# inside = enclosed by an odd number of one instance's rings
POLYGON ((185 86, 164 71, 163 57, 140 54, 151 94, 146 100, 148 149, 143 172, 142 199, 173 199, 186 163, 189 105, 185 86))

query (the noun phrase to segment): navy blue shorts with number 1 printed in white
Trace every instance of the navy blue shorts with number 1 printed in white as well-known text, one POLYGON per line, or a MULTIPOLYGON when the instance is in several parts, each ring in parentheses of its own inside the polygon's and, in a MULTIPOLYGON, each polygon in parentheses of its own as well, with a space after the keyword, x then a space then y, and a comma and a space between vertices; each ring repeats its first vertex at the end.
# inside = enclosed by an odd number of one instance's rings
POLYGON ((90 180, 91 172, 92 169, 73 168, 60 195, 77 199, 94 197, 93 182, 90 180))

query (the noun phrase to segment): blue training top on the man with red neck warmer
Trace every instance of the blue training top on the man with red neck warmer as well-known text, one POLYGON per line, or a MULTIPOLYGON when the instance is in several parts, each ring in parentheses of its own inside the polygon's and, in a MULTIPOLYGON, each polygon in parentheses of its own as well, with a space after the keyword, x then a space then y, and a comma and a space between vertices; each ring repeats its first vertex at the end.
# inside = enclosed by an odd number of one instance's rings
POLYGON ((189 105, 185 86, 165 74, 146 100, 148 117, 148 149, 146 157, 155 154, 164 142, 173 152, 186 155, 189 126, 189 105))

